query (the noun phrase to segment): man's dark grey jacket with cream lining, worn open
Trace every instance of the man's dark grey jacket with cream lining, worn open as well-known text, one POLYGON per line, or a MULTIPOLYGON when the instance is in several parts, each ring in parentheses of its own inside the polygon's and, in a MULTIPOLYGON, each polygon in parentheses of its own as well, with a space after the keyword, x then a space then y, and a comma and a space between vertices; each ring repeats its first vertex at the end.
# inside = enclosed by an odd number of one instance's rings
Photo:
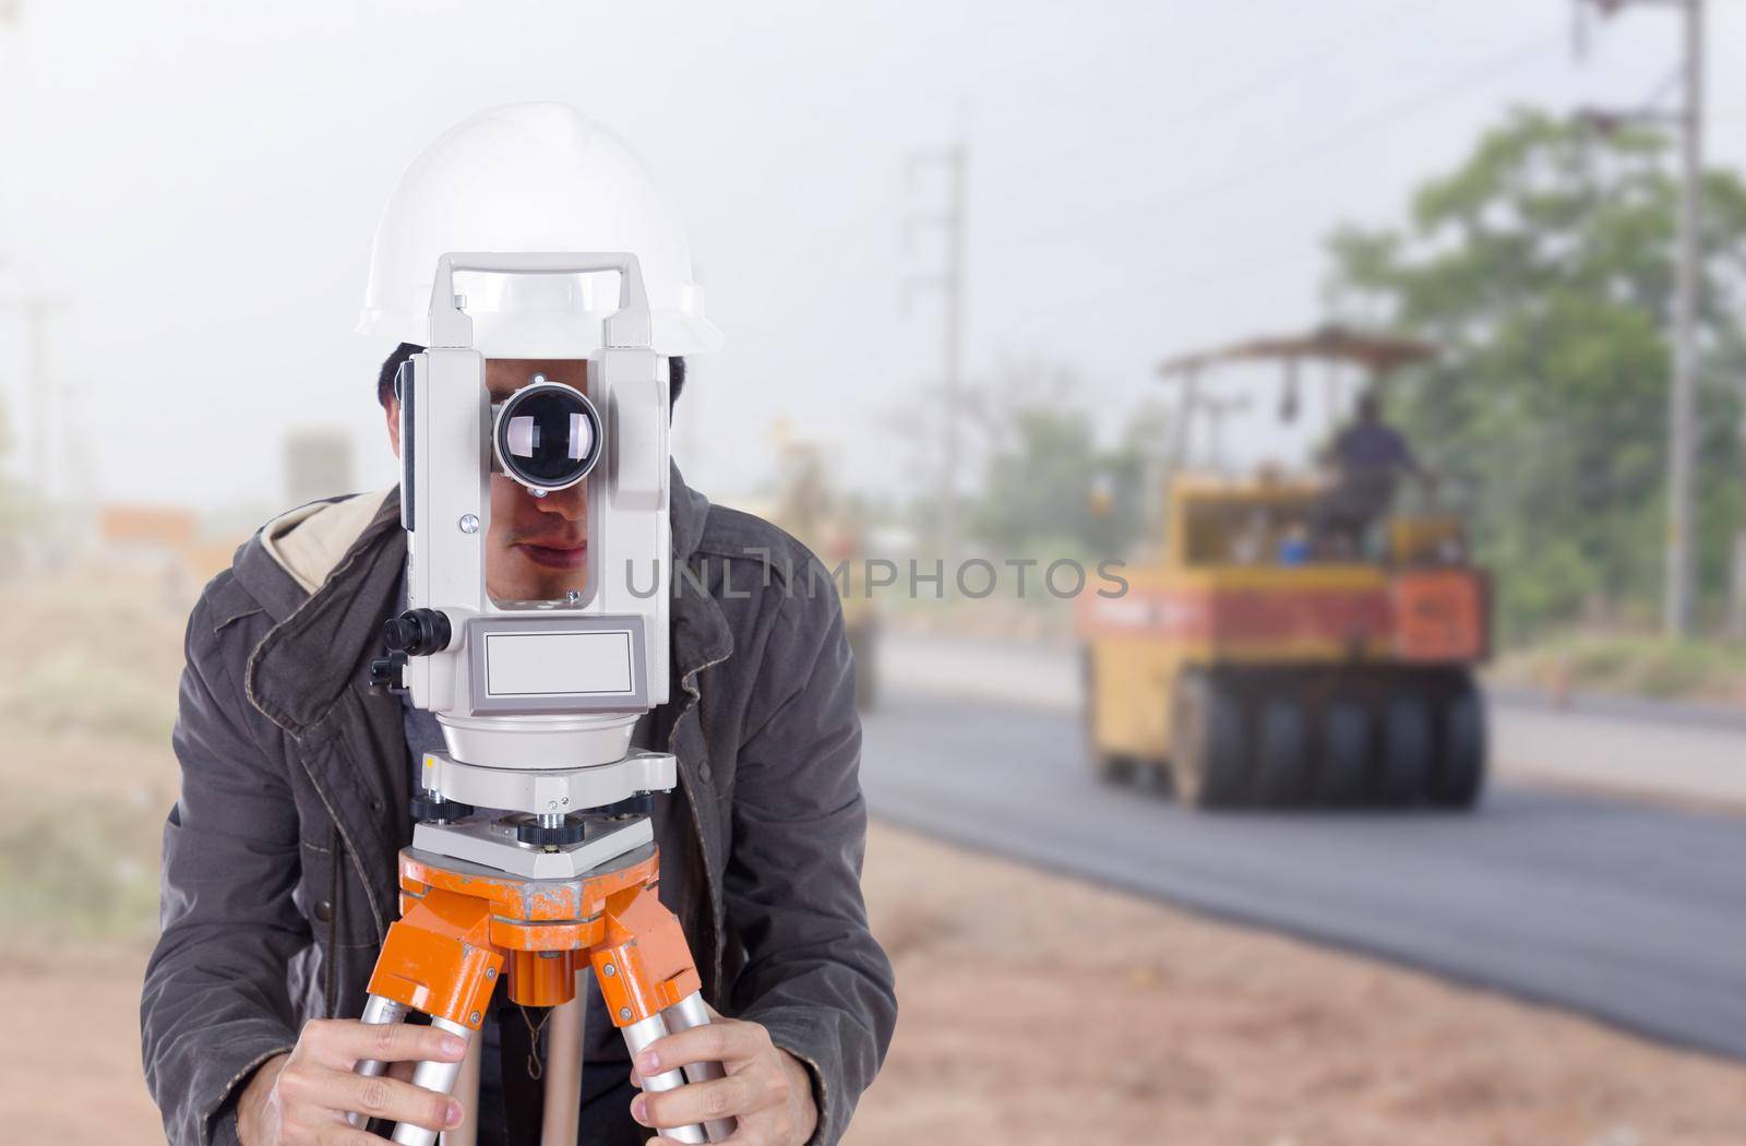
MULTIPOLYGON (((145 1078, 175 1146, 234 1143, 250 1073, 307 1018, 356 1017, 410 842, 402 702, 367 664, 396 604, 398 489, 262 528, 189 618, 164 828, 162 936, 140 1006, 145 1078)), ((812 1071, 836 1143, 896 1022, 861 898, 866 809, 854 666, 807 550, 672 472, 672 697, 688 821, 672 903, 704 992, 812 1071)))

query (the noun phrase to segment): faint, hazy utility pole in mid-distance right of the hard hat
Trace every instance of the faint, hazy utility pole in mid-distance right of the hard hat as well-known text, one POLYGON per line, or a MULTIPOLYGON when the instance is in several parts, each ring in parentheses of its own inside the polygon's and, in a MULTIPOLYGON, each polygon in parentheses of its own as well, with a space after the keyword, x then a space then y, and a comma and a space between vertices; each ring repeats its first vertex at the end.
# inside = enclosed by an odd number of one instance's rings
POLYGON ((910 155, 908 183, 913 192, 922 171, 939 169, 946 180, 945 208, 927 213, 910 213, 904 218, 904 236, 913 239, 917 229, 938 229, 943 239, 941 266, 932 274, 904 280, 904 299, 910 288, 927 286, 941 292, 943 314, 939 328, 939 552, 952 559, 959 545, 959 458, 962 456, 964 423, 964 232, 966 182, 969 178, 969 143, 962 138, 939 152, 910 155))

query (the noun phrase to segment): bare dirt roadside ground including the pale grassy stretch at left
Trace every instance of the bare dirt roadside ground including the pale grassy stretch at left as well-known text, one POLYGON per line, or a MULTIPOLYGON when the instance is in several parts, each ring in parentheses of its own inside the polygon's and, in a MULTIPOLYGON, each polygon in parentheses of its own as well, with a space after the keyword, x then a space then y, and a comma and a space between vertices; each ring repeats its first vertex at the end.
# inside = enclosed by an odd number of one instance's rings
MULTIPOLYGON (((7 590, 0 1143, 161 1143, 138 1004, 185 613, 7 590)), ((1746 1144, 1746 1066, 1577 1017, 887 826, 866 894, 903 1015, 850 1146, 1746 1144)))

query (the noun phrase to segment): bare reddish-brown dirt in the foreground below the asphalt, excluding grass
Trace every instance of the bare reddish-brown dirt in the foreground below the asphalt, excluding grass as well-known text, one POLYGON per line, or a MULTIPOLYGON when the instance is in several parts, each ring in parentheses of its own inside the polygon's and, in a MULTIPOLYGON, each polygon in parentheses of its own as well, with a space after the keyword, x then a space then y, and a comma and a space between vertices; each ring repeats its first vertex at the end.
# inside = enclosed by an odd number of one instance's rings
MULTIPOLYGON (((1739 1146, 1746 1066, 875 826, 903 1017, 852 1146, 1739 1146)), ((0 954, 0 1139, 161 1139, 140 943, 0 954)))

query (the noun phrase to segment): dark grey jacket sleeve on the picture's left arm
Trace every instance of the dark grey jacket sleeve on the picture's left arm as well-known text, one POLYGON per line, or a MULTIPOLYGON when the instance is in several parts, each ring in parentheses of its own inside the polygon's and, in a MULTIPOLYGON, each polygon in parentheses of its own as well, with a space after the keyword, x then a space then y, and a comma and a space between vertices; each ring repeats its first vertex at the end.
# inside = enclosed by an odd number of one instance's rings
POLYGON ((292 901, 297 811, 248 730, 230 667, 246 652, 222 648, 217 585, 189 618, 171 734, 182 795, 164 825, 162 933, 140 1001, 145 1081, 173 1146, 236 1143, 239 1083, 297 1041, 286 968, 311 942, 292 901))

